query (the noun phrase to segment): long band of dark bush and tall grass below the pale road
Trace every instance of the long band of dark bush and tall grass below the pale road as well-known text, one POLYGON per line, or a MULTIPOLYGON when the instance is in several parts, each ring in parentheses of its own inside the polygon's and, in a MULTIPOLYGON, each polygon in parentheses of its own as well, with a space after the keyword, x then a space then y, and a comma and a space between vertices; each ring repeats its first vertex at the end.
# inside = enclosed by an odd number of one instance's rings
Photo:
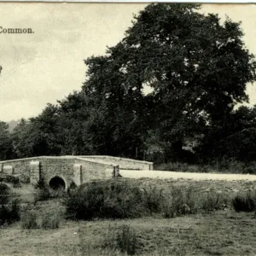
POLYGON ((124 180, 83 184, 67 196, 67 218, 139 218, 161 214, 174 218, 199 211, 210 212, 227 207, 229 196, 209 192, 201 195, 192 187, 172 186, 171 191, 157 187, 141 188, 124 180))

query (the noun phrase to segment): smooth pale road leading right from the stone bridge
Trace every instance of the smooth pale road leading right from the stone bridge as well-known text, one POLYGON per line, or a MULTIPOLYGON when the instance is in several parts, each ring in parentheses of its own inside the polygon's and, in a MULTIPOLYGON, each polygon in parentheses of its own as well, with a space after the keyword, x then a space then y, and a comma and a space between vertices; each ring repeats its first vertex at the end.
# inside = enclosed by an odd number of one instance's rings
POLYGON ((256 181, 256 175, 252 174, 220 174, 220 173, 198 173, 198 172, 167 172, 167 171, 134 171, 120 170, 123 177, 150 177, 150 178, 172 178, 172 179, 193 179, 193 180, 248 180, 256 181))

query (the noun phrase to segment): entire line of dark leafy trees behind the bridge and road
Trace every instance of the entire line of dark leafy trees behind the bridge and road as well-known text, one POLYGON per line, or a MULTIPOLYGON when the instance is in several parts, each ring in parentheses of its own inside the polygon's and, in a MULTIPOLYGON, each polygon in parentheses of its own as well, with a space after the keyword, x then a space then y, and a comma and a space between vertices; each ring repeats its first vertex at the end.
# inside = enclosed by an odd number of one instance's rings
POLYGON ((239 23, 198 9, 148 5, 119 44, 84 61, 87 79, 80 91, 22 119, 11 133, 1 123, 0 158, 255 160, 256 107, 236 108, 248 102, 247 83, 256 80, 254 56, 239 23), (183 147, 188 141, 193 150, 183 147))

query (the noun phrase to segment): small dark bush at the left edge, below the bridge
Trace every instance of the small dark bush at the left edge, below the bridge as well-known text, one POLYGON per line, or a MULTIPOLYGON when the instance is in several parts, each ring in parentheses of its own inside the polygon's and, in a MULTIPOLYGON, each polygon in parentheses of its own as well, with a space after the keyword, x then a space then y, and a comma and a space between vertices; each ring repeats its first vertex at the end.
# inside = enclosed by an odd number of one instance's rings
POLYGON ((12 201, 11 204, 0 207, 0 225, 12 224, 20 220, 19 201, 12 201))

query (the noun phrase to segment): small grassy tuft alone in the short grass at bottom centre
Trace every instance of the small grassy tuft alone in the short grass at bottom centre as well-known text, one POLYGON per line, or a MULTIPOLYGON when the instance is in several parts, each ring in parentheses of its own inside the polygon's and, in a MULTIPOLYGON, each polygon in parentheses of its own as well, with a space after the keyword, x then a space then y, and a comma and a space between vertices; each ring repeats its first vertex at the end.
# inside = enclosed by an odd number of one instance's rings
POLYGON ((109 226, 108 236, 103 241, 103 247, 119 250, 121 253, 127 253, 128 255, 134 255, 142 247, 142 244, 135 230, 130 225, 122 225, 119 228, 109 226))

